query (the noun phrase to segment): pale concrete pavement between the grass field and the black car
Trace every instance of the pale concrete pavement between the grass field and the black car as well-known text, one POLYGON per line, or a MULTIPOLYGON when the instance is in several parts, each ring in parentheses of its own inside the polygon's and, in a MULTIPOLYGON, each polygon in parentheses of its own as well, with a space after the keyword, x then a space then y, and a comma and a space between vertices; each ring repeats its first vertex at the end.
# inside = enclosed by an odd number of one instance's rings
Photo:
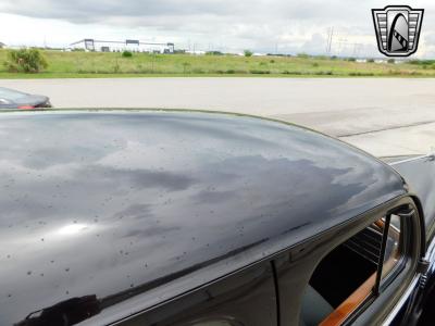
POLYGON ((58 108, 172 108, 275 117, 336 136, 375 155, 435 147, 435 79, 115 78, 3 79, 58 108))

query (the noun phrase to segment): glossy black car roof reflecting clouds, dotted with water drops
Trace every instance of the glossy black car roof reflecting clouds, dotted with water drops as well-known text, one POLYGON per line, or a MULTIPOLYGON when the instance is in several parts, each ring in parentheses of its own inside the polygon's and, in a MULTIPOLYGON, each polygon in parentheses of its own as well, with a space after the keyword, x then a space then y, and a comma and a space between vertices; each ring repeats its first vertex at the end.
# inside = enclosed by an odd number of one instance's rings
POLYGON ((89 296, 110 323, 407 193, 359 150, 253 117, 5 113, 0 135, 0 325, 89 296))

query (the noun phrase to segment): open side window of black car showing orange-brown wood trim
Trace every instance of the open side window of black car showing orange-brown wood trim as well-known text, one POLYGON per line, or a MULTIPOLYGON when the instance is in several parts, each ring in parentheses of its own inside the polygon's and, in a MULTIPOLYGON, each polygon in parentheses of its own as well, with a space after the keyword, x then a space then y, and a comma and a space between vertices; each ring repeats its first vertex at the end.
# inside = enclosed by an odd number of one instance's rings
POLYGON ((320 262, 309 281, 301 325, 340 325, 393 276, 402 258, 397 215, 380 218, 341 243, 320 262))

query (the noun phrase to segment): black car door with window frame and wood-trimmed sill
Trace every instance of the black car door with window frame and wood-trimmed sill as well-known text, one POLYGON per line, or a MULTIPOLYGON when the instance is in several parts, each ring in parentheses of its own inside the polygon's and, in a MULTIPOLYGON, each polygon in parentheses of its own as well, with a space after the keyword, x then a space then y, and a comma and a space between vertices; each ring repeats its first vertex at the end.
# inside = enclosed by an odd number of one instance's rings
POLYGON ((281 325, 378 325, 402 317, 400 300, 414 285, 422 254, 418 211, 402 198, 276 259, 281 325))

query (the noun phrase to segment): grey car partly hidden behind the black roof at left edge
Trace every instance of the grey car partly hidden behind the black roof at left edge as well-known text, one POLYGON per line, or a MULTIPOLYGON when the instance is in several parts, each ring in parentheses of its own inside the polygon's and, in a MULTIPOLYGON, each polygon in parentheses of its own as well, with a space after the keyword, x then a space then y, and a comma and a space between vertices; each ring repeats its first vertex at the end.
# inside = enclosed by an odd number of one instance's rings
POLYGON ((50 99, 46 96, 0 87, 0 109, 30 110, 38 108, 51 108, 50 99))

